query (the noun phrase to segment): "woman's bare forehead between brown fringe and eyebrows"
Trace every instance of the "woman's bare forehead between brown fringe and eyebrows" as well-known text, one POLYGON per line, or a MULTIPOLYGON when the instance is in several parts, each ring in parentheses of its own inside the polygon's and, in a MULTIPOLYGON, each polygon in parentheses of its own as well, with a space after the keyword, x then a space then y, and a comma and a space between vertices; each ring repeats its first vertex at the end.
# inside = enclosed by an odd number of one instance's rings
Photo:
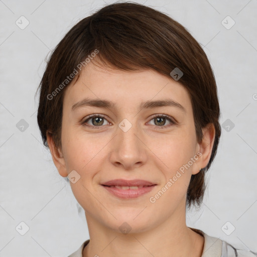
POLYGON ((67 87, 63 104, 71 108, 84 98, 107 99, 120 108, 170 98, 185 109, 191 108, 186 88, 171 77, 152 69, 122 71, 98 67, 92 62, 81 71, 76 83, 67 87))

